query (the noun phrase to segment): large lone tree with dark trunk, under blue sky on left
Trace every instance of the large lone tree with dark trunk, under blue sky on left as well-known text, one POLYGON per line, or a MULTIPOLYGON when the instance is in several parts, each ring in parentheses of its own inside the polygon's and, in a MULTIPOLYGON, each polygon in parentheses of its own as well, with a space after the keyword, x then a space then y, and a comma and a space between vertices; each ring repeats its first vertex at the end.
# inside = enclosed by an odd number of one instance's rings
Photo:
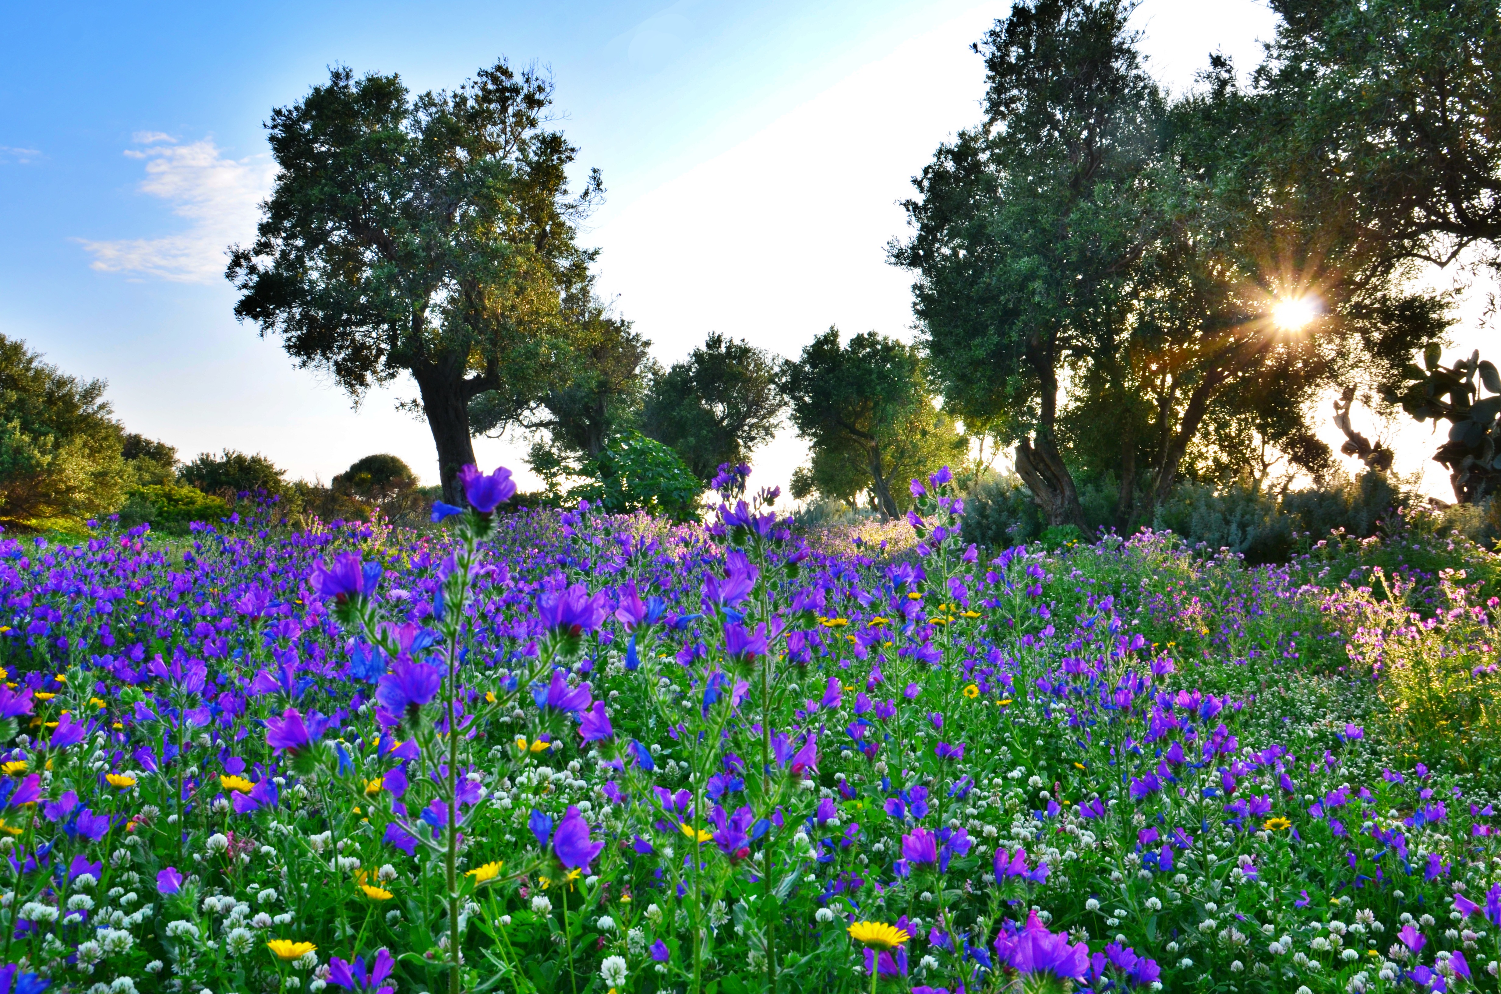
POLYGON ((255 243, 231 252, 236 317, 299 365, 356 398, 413 375, 450 503, 474 461, 468 402, 503 390, 528 408, 593 306, 575 234, 602 185, 590 174, 570 198, 576 150, 546 126, 551 96, 504 60, 416 98, 395 75, 336 68, 272 111, 281 171, 255 243))

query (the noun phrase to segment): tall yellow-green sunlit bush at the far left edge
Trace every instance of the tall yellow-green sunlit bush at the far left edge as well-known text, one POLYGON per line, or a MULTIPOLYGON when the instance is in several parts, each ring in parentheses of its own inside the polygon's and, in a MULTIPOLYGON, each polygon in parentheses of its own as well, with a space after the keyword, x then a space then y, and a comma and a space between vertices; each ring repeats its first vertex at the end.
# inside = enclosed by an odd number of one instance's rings
POLYGON ((0 336, 0 518, 113 512, 123 499, 123 432, 104 380, 80 380, 0 336))

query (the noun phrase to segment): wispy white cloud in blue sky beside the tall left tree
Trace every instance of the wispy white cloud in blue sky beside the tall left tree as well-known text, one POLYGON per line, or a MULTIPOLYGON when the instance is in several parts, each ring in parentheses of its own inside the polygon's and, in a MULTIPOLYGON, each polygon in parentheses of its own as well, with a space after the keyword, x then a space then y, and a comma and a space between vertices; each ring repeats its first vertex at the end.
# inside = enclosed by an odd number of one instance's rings
POLYGON ((225 248, 255 236, 257 206, 270 192, 276 167, 264 156, 230 159, 212 138, 179 144, 161 132, 137 132, 143 147, 125 155, 146 164, 140 191, 171 204, 188 227, 159 239, 80 239, 93 269, 174 282, 216 282, 225 248))

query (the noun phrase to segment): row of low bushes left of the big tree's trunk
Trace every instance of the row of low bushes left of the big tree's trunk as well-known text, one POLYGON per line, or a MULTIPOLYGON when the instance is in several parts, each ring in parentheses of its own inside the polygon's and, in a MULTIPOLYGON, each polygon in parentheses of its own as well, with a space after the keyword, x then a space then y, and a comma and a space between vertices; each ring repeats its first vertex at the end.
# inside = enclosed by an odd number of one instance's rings
POLYGON ((171 444, 128 431, 105 386, 0 336, 0 526, 81 533, 87 520, 117 515, 125 526, 183 533, 242 500, 272 505, 299 526, 377 511, 398 524, 426 517, 434 491, 393 455, 366 456, 327 485, 288 480, 269 458, 233 449, 183 462, 171 444))

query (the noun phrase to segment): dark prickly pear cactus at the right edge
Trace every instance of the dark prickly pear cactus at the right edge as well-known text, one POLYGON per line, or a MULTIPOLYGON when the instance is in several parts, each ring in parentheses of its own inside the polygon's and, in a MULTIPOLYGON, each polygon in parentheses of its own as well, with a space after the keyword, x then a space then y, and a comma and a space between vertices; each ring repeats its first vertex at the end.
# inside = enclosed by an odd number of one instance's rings
POLYGON ((1477 505, 1501 492, 1501 374, 1478 350, 1453 366, 1441 365, 1441 354, 1436 342, 1429 344, 1423 350, 1426 369, 1408 363, 1406 389, 1388 390, 1387 401, 1418 420, 1450 422, 1448 440, 1433 461, 1448 470, 1459 503, 1477 505), (1481 398, 1481 387, 1490 396, 1481 398))

